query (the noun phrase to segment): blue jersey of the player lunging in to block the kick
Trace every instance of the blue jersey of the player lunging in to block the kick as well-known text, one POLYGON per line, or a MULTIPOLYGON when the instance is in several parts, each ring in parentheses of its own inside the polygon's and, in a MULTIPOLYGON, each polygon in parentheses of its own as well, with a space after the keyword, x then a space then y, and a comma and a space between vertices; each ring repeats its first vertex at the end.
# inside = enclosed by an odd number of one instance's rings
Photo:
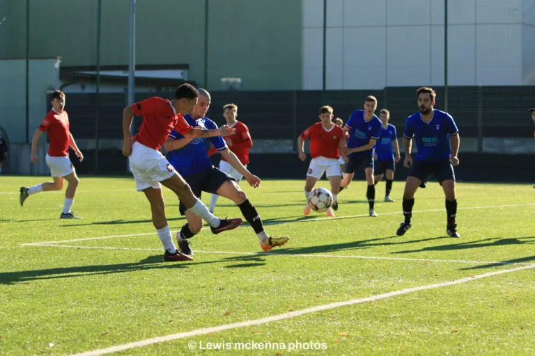
MULTIPOLYGON (((203 129, 213 130, 217 129, 217 124, 209 118, 201 118, 195 120, 191 115, 184 115, 184 120, 192 127, 202 127, 203 129)), ((184 136, 178 131, 171 131, 169 137, 176 140, 184 138, 184 136)), ((180 149, 174 149, 169 152, 169 163, 173 165, 181 176, 186 177, 196 172, 201 172, 210 168, 212 162, 208 159, 208 152, 206 151, 206 145, 208 140, 212 145, 217 148, 218 151, 226 148, 226 143, 221 136, 209 137, 209 138, 194 138, 187 145, 180 149)))

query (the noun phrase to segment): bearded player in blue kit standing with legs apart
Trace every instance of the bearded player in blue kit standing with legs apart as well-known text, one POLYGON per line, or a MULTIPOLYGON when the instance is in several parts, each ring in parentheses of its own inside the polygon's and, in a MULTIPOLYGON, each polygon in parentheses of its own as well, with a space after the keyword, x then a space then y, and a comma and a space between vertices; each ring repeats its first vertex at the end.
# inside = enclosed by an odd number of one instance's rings
POLYGON ((457 200, 455 194, 455 172, 453 167, 459 164, 459 133, 455 121, 449 113, 433 108, 437 94, 432 88, 422 87, 417 90, 420 110, 409 116, 403 131, 403 148, 405 149, 405 167, 410 168, 405 191, 403 192, 403 215, 396 234, 402 236, 412 226, 412 207, 414 193, 418 186, 434 174, 442 185, 446 196, 447 234, 460 237, 455 218, 457 200), (418 152, 412 160, 410 154, 412 138, 416 140, 418 152), (451 145, 450 145, 451 140, 451 145))

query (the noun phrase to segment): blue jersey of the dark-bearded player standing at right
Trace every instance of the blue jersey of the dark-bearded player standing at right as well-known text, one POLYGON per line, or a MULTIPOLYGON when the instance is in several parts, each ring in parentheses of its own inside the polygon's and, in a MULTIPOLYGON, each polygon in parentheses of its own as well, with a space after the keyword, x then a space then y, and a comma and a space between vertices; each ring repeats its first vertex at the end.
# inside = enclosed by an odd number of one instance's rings
POLYGON ((449 136, 458 133, 457 125, 449 113, 433 110, 429 122, 421 118, 420 112, 409 116, 403 136, 416 140, 418 153, 416 161, 435 163, 451 157, 449 136))

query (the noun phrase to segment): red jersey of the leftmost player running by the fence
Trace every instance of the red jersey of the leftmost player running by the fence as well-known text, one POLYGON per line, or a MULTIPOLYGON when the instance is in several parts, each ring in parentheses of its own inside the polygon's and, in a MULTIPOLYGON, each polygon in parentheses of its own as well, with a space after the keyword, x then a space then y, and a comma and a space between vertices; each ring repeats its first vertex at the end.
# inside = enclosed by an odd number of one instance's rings
POLYGON ((48 132, 48 155, 52 157, 63 157, 69 155, 69 115, 63 110, 57 113, 51 110, 42 120, 38 129, 48 132))

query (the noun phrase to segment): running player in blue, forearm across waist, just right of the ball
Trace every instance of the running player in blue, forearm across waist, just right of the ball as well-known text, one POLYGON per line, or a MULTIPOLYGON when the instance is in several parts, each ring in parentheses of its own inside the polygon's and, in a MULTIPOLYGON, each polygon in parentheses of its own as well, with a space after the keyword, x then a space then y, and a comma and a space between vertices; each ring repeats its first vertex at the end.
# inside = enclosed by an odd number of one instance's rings
POLYGON ((377 109, 377 99, 369 95, 364 100, 364 110, 357 110, 348 119, 344 132, 348 132, 347 151, 348 163, 346 164, 346 173, 340 184, 340 190, 346 188, 351 183, 357 170, 364 169, 366 173, 366 182, 368 189, 366 197, 368 198, 370 216, 377 216, 373 210, 375 202, 375 184, 373 181, 373 146, 375 141, 380 137, 381 120, 374 114, 377 109))

